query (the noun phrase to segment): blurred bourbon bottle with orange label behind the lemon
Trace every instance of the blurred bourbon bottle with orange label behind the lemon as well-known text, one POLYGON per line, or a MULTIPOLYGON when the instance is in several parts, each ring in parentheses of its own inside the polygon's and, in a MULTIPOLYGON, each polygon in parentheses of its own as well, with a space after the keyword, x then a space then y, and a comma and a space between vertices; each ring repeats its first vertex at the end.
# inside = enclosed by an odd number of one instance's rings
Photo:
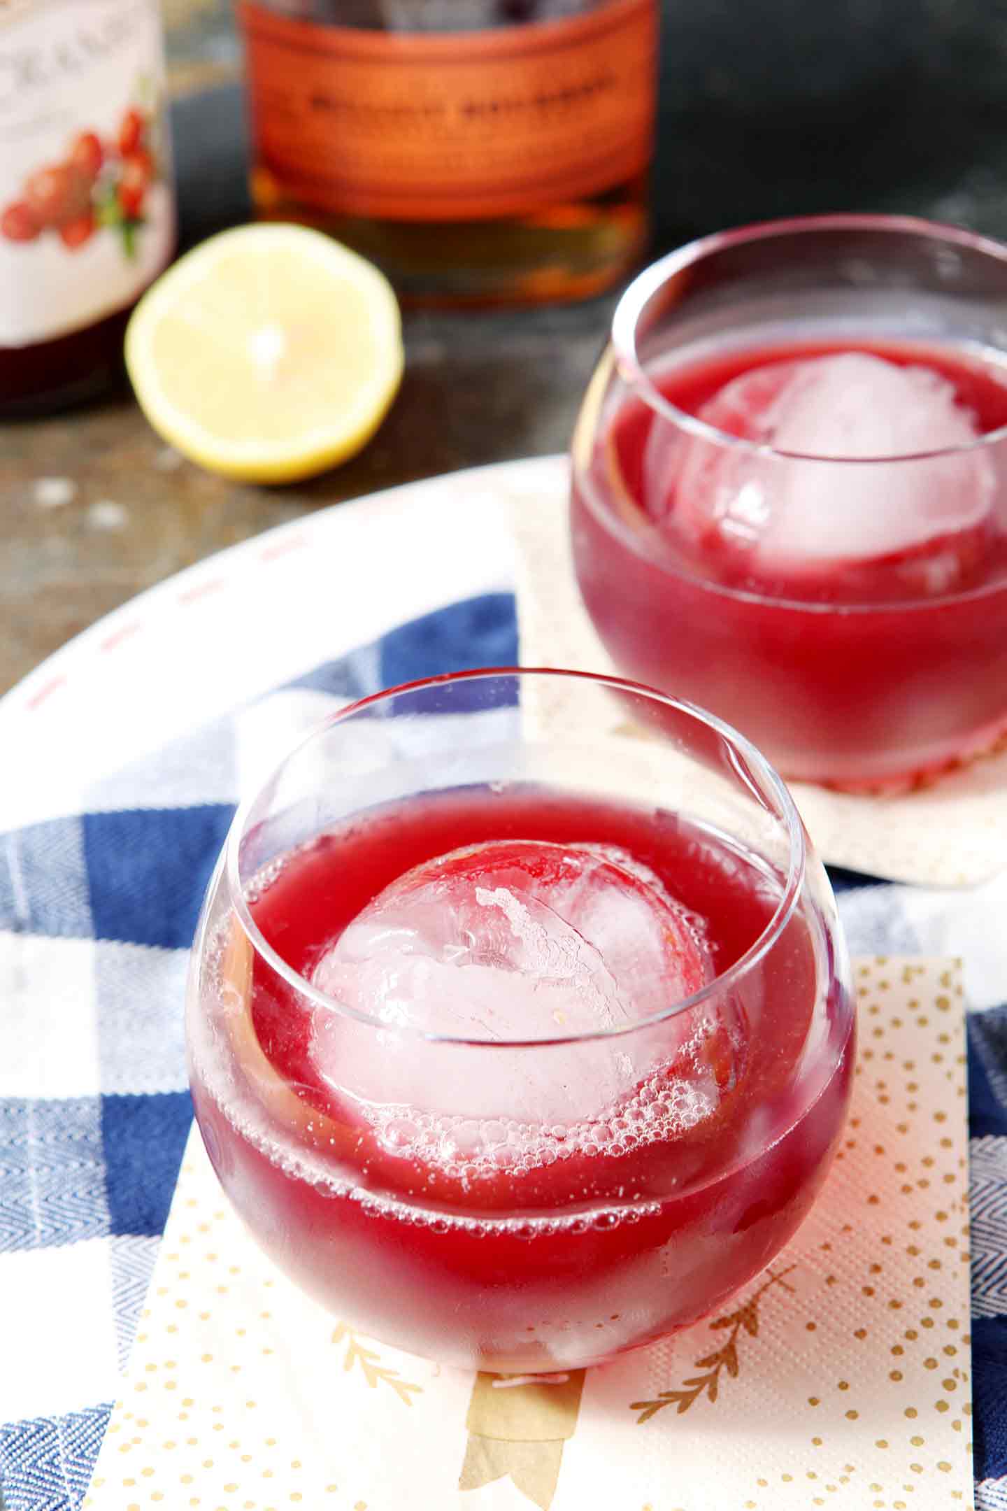
POLYGON ((252 196, 403 299, 575 299, 648 231, 657 0, 243 0, 252 196))

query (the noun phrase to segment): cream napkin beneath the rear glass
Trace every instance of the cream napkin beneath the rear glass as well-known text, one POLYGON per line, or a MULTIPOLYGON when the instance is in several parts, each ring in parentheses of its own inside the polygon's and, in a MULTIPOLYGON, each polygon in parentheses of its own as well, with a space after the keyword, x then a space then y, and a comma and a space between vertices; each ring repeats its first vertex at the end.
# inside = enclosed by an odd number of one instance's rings
MULTIPOLYGON (((569 471, 562 458, 544 458, 507 484, 504 508, 516 542, 521 665, 613 672, 577 591, 568 494, 569 471)), ((560 684, 530 684, 522 707, 562 728, 569 697, 571 691, 560 684)), ((613 725, 617 722, 619 713, 613 712, 613 725)), ((790 786, 829 864, 932 887, 971 885, 1002 870, 1007 749, 901 796, 827 792, 809 783, 790 786)))

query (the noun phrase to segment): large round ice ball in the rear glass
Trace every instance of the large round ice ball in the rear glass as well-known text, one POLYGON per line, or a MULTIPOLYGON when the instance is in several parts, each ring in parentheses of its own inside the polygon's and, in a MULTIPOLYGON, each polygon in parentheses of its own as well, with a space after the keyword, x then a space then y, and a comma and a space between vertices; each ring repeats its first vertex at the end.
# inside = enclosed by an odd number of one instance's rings
POLYGON ((975 416, 927 367, 868 352, 767 363, 698 417, 794 459, 654 425, 645 503, 693 548, 774 577, 886 564, 924 595, 962 585, 983 556, 993 467, 969 449, 975 416))

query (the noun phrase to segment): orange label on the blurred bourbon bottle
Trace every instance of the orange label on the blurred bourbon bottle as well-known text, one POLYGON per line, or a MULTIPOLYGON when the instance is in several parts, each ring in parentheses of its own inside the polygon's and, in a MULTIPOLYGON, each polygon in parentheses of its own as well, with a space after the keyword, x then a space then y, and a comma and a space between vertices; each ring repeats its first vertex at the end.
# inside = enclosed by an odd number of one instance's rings
POLYGON ((482 32, 373 32, 243 3, 257 156, 337 215, 473 221, 602 193, 646 168, 654 0, 482 32))

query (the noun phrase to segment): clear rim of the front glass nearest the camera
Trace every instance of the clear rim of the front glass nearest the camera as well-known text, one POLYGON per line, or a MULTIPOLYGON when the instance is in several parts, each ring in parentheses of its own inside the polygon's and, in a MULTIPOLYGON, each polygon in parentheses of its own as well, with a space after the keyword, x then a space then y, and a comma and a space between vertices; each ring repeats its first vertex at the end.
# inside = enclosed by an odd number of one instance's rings
MULTIPOLYGON (((756 801, 762 807, 767 807, 764 793, 753 787, 752 777, 747 774, 744 766, 737 762, 732 763, 738 780, 755 793, 756 801)), ((773 811, 770 808, 770 811, 773 811)), ((619 1040, 628 1034, 636 1034, 658 1023, 664 1023, 669 1018, 678 1017, 679 1012, 688 1012, 702 1002, 711 997, 731 991, 738 981, 747 976, 753 967, 768 953, 768 950, 779 940, 784 928, 790 922, 797 901, 800 898, 806 866, 808 866, 808 845, 805 839, 805 828, 794 804, 793 796, 787 787, 787 783, 770 765, 770 762, 762 756, 762 752, 749 740, 744 734, 735 730, 732 725, 726 724, 717 715, 701 709, 694 703, 688 703, 684 698, 675 698, 670 694, 660 692, 657 688, 648 688, 645 683, 630 681, 624 677, 608 677, 599 672, 587 671, 566 671, 556 666, 485 666, 473 671, 456 671, 442 672, 438 677, 421 677, 415 681, 400 683, 394 688, 383 688, 379 692, 368 694, 365 698, 358 698, 355 703, 347 704, 344 709, 338 709, 335 713, 328 715, 320 724, 308 730, 299 740, 296 740, 287 754, 270 768, 269 774, 260 780, 254 792, 239 804, 231 827, 228 830, 228 837, 223 845, 222 852, 222 869, 226 878, 229 898, 228 907, 234 917, 239 920, 245 937, 248 938, 252 950, 267 966, 293 990, 300 996, 306 997, 316 1008, 323 1008, 328 1012, 337 1012, 341 1017, 352 1018, 353 1021, 373 1029, 373 1031, 394 1031, 396 1034, 406 1035, 415 1043, 429 1044, 451 1044, 470 1049, 488 1049, 488 1050, 515 1050, 515 1049, 551 1049, 557 1046, 572 1046, 572 1044, 589 1044, 599 1043, 605 1040, 619 1040), (300 972, 294 970, 288 961, 276 950, 269 940, 263 935, 261 929, 252 917, 248 899, 245 895, 245 885, 242 884, 240 873, 240 843, 246 831, 248 822, 255 810, 255 804, 261 795, 270 787, 270 784, 279 777, 281 771, 291 762, 302 749, 317 740, 320 736, 326 734, 331 728, 343 724, 353 716, 359 715, 364 709, 373 707, 379 703, 386 703, 393 698, 402 697, 403 694, 415 694, 429 688, 439 686, 456 686, 465 681, 489 680, 512 677, 521 680, 525 677, 562 677, 572 678, 577 681, 587 681, 595 686, 613 688, 616 692, 633 692, 651 698, 654 703, 670 707, 678 713, 684 713, 694 719, 698 724, 717 733, 728 745, 732 754, 741 754, 749 768, 755 768, 755 772, 768 789, 771 796, 776 799, 779 808, 779 817, 785 823, 788 837, 788 866, 787 866, 787 884, 784 887, 781 901, 773 910, 771 917, 767 920, 765 926, 761 929, 758 937, 749 944, 749 947, 735 959, 722 975, 714 976, 713 981, 701 987, 699 991, 690 993, 687 997, 681 997, 667 1008, 661 1008, 658 1012, 648 1014, 646 1017, 636 1018, 631 1023, 613 1024, 611 1027, 589 1029, 580 1034, 560 1034, 548 1038, 534 1040, 518 1040, 518 1038, 503 1038, 503 1040, 488 1040, 488 1038, 473 1038, 468 1035, 457 1034, 436 1034, 429 1029, 421 1029, 411 1023, 386 1023, 382 1018, 373 1017, 368 1012, 361 1012, 356 1008, 347 1006, 340 1002, 338 997, 331 997, 328 993, 322 991, 319 987, 313 985, 300 972)))

